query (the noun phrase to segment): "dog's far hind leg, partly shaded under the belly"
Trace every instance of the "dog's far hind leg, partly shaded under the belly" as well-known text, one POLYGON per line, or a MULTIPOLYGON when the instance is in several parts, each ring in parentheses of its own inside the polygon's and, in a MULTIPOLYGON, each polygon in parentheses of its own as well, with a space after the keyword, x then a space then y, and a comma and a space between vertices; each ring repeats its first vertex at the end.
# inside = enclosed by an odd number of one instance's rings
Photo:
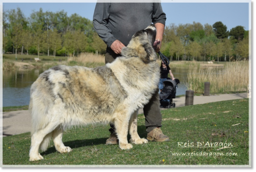
POLYGON ((61 128, 53 131, 53 142, 56 150, 60 153, 67 153, 71 151, 70 147, 66 147, 62 142, 63 130, 61 128))

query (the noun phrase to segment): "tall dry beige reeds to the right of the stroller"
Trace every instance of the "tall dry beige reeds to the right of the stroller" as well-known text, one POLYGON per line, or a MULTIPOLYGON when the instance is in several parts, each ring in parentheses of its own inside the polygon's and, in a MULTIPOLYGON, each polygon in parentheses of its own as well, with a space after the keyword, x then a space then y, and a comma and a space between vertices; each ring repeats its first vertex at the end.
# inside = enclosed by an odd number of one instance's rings
POLYGON ((189 66, 185 85, 195 93, 204 92, 210 82, 210 93, 246 91, 249 84, 249 63, 227 62, 223 68, 189 66))

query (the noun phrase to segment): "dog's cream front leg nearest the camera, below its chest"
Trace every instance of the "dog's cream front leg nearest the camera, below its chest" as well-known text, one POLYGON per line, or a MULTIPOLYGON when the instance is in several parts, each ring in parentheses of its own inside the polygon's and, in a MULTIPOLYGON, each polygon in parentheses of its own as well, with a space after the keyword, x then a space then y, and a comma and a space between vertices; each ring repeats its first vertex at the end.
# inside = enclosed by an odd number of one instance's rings
POLYGON ((121 149, 133 148, 133 145, 129 144, 127 140, 129 120, 130 120, 130 115, 127 114, 125 110, 122 110, 116 115, 116 120, 115 120, 116 134, 119 140, 119 147, 121 149))

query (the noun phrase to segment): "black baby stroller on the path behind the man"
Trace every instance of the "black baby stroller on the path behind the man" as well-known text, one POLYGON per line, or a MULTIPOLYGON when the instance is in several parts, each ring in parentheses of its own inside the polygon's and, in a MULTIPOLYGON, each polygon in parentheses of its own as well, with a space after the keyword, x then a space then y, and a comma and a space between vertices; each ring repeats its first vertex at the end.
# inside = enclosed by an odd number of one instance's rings
POLYGON ((176 97, 176 89, 178 88, 179 79, 170 79, 167 78, 164 81, 164 88, 162 89, 161 93, 159 93, 159 100, 162 107, 175 107, 175 103, 172 103, 172 99, 176 97))

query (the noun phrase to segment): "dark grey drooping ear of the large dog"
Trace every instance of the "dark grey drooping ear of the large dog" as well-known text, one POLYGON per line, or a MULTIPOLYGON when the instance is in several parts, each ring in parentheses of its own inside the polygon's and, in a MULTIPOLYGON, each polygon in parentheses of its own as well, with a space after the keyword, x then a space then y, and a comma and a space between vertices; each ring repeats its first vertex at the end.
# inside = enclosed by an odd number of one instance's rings
POLYGON ((157 60, 156 52, 154 51, 154 48, 151 46, 151 44, 146 43, 143 45, 145 53, 141 53, 140 59, 144 63, 149 63, 151 61, 157 60))

